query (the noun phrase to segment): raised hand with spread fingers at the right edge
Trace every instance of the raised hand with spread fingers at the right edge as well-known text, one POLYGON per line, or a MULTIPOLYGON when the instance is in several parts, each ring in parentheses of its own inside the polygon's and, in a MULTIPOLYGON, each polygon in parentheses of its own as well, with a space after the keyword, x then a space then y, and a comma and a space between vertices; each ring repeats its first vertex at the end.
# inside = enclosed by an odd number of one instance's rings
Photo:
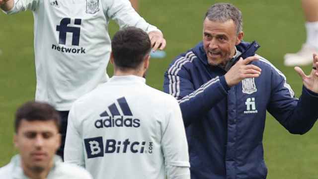
POLYGON ((313 70, 310 75, 306 75, 304 71, 300 67, 295 67, 295 71, 298 75, 303 79, 304 86, 313 91, 318 93, 318 55, 313 55, 313 70))

